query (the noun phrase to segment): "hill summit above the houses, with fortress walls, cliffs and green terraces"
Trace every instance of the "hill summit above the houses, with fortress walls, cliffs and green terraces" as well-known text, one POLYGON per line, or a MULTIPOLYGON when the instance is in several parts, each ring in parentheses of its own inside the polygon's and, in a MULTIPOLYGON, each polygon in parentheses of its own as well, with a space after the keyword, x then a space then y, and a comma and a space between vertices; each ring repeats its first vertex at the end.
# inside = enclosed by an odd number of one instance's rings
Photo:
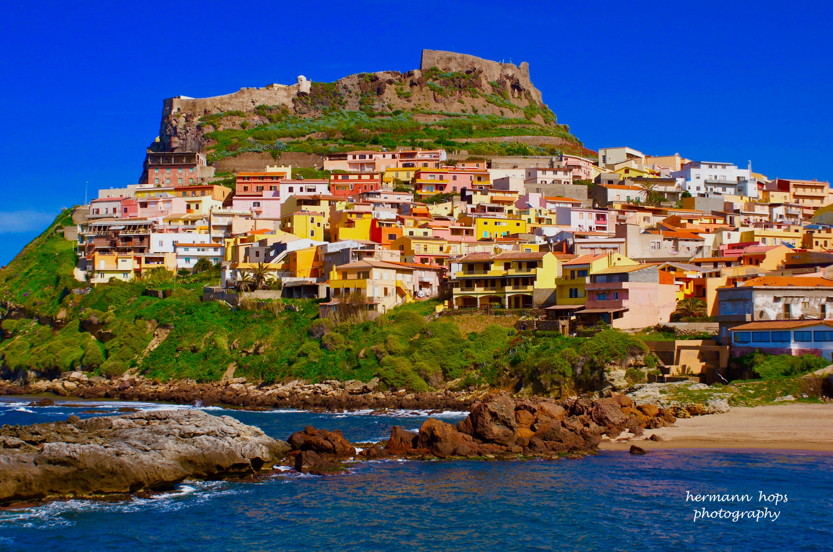
POLYGON ((557 122, 526 62, 517 67, 433 50, 422 52, 419 69, 404 73, 358 73, 335 82, 298 76, 290 86, 169 98, 152 149, 199 150, 213 162, 244 152, 277 160, 283 152, 323 155, 372 145, 595 156, 557 122), (506 136, 536 140, 502 140, 506 136))

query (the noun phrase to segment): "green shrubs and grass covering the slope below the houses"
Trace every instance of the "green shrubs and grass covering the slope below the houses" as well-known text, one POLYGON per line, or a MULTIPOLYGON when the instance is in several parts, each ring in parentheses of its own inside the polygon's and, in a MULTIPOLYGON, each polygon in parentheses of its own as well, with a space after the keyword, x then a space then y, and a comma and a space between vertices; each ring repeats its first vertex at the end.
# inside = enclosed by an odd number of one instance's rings
MULTIPOLYGON (((217 283, 216 269, 185 278, 162 271, 149 281, 112 281, 90 293, 73 293, 87 284, 72 275, 73 242, 56 231, 70 217, 68 210, 59 214, 0 271, 4 378, 27 370, 55 377, 82 367, 107 376, 131 370, 162 381, 210 382, 233 366, 235 377, 252 381, 380 377, 382 388, 488 384, 563 397, 599 388, 611 367, 631 361, 651 367, 640 336, 603 329, 592 338, 566 338, 517 332, 489 320, 478 331, 463 332, 451 318, 429 316, 435 301, 409 303, 362 323, 318 318, 315 300, 244 302, 243 308, 203 303, 202 287, 217 283), (162 289, 166 297, 144 295, 147 288, 162 289), (287 304, 297 311, 284 308, 287 304)), ((826 365, 816 357, 785 355, 737 362, 772 382, 755 387, 768 390, 761 397, 750 391, 743 398, 744 391, 739 401, 800 392, 796 376, 826 365)))

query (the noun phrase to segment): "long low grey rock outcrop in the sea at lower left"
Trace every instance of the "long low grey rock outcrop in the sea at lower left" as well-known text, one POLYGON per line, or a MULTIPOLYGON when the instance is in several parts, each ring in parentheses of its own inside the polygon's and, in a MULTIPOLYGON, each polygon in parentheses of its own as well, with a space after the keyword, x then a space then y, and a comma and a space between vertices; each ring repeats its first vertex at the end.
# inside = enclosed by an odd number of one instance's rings
POLYGON ((0 503, 251 476, 271 469, 288 450, 257 427, 198 410, 2 426, 0 503))

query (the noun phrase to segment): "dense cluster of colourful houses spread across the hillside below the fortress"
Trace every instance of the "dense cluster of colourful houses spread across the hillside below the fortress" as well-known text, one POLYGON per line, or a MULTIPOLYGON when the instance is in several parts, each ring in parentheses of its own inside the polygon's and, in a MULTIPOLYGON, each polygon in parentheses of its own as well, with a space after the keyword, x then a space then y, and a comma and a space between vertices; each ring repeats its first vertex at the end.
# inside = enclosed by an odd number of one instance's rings
POLYGON ((371 318, 441 297, 440 309, 540 309, 564 334, 685 318, 719 324, 735 354, 833 351, 827 182, 629 147, 597 159, 377 147, 323 155, 326 178, 265 165, 230 185, 199 152, 149 152, 145 170, 75 211, 92 285, 217 267, 207 298, 316 298, 325 316, 354 294, 371 318))

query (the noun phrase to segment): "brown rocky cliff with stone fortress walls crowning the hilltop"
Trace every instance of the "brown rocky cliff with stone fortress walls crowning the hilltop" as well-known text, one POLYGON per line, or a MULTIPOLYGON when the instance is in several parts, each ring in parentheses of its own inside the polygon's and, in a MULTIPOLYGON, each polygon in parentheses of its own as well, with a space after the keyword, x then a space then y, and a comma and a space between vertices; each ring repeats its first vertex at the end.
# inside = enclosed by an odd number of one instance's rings
MULTIPOLYGON (((526 117, 531 123, 559 126, 556 116, 541 101, 521 63, 492 62, 480 57, 423 50, 419 69, 400 73, 378 71, 346 76, 335 82, 313 82, 298 76, 290 86, 242 88, 224 96, 165 100, 159 141, 160 151, 201 151, 211 146, 212 131, 267 126, 276 114, 303 118, 334 110, 377 112, 377 116, 401 110, 415 121, 430 125, 437 112, 526 117)), ((563 129, 555 136, 568 134, 563 129)))

